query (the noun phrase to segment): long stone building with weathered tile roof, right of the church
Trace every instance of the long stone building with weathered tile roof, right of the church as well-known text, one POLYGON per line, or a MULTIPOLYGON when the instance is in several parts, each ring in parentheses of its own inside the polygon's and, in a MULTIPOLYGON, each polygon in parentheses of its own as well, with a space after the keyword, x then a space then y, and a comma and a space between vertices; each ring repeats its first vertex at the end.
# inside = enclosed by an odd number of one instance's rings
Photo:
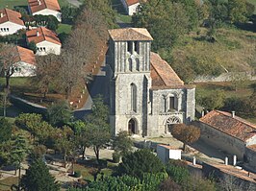
POLYGON ((256 144, 256 125, 232 113, 212 110, 199 119, 201 139, 230 155, 245 159, 245 148, 256 144))

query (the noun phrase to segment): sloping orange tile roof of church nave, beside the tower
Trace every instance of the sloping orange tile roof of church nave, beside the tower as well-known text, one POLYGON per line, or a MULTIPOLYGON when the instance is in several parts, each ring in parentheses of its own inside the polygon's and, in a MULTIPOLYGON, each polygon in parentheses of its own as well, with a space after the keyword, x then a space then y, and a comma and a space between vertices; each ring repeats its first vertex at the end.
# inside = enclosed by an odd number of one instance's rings
POLYGON ((166 87, 180 87, 184 85, 184 82, 179 78, 175 71, 170 67, 166 60, 151 52, 151 78, 152 86, 166 86, 166 87))

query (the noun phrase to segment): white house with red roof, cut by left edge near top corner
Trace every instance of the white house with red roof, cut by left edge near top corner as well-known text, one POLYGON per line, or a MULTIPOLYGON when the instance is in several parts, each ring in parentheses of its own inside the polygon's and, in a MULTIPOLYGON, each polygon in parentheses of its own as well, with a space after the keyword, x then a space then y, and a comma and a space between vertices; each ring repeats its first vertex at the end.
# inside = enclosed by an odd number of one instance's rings
POLYGON ((9 9, 0 10, 0 36, 13 35, 18 30, 26 29, 20 18, 19 12, 9 9))

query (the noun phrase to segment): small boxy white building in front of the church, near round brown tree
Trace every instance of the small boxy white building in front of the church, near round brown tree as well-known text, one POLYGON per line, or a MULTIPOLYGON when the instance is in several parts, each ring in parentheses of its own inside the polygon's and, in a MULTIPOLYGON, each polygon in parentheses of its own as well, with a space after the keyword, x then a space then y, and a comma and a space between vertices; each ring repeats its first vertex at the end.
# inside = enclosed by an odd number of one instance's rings
POLYGON ((181 150, 168 145, 157 145, 157 156, 167 163, 169 159, 181 159, 181 150))

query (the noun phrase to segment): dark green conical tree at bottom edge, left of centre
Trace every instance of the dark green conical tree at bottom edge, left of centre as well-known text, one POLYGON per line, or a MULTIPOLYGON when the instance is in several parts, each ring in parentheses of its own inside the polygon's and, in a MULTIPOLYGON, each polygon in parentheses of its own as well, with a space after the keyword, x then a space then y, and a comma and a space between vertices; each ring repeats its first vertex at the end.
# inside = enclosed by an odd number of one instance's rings
POLYGON ((49 169, 41 160, 32 163, 21 179, 21 186, 28 191, 60 190, 60 185, 50 175, 49 169))

